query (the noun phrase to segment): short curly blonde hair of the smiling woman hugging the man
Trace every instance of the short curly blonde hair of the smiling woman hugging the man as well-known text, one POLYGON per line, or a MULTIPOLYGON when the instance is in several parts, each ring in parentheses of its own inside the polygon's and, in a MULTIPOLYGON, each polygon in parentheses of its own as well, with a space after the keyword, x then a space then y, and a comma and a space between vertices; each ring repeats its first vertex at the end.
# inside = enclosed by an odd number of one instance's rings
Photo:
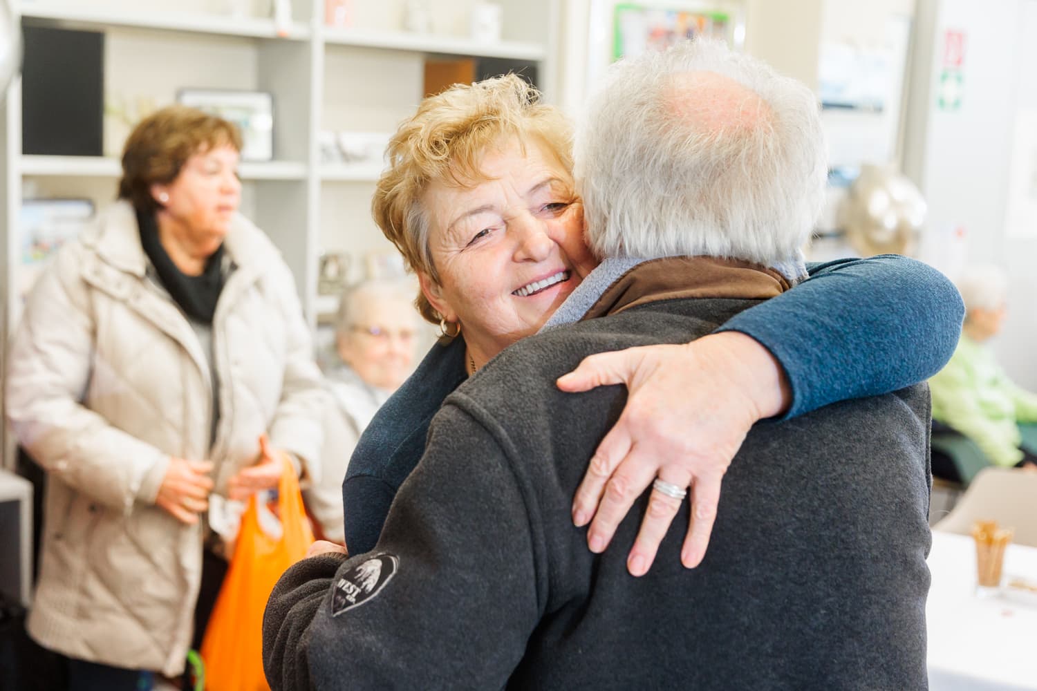
MULTIPOLYGON (((572 170, 572 126, 540 100, 540 92, 516 75, 455 84, 425 98, 389 141, 389 168, 379 179, 371 213, 408 266, 439 283, 422 197, 433 181, 461 188, 486 180, 482 155, 502 139, 536 138, 567 172, 572 170)), ((442 315, 419 292, 421 316, 438 324, 442 315)))

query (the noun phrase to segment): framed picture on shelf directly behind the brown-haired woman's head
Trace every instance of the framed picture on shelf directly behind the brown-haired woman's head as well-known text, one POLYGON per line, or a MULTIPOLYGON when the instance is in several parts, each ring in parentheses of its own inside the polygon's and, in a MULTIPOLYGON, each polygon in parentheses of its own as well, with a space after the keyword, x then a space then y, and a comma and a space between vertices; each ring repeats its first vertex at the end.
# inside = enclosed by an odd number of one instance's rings
POLYGON ((242 161, 274 159, 274 94, 267 91, 180 89, 176 100, 237 125, 242 133, 242 161))

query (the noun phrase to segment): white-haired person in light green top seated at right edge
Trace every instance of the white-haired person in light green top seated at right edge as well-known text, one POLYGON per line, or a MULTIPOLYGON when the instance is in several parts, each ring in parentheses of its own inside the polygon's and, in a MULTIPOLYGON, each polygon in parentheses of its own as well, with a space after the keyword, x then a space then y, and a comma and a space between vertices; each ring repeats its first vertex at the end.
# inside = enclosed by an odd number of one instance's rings
MULTIPOLYGON (((957 285, 965 321, 947 367, 929 380, 932 420, 975 441, 988 463, 1037 470, 1037 394, 1014 384, 988 346, 1004 323, 1008 279, 997 266, 971 266, 957 285)), ((942 454, 932 471, 959 479, 942 454)))

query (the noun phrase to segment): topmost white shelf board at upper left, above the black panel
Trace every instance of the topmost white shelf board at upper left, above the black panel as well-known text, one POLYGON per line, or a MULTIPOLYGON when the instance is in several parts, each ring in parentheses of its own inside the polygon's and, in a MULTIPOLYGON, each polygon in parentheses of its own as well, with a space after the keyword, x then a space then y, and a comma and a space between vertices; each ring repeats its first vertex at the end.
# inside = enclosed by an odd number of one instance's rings
POLYGON ((304 40, 310 30, 293 22, 286 36, 278 36, 274 20, 257 17, 230 17, 175 11, 115 11, 89 7, 49 6, 22 3, 22 18, 37 25, 69 26, 104 30, 111 27, 209 33, 249 38, 287 38, 304 40))

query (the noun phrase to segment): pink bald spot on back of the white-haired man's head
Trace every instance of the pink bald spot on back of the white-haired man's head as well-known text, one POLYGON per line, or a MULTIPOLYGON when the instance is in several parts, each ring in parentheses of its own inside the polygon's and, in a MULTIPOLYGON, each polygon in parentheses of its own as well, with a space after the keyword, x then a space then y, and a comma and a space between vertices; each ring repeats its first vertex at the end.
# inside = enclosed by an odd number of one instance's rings
POLYGON ((712 71, 675 75, 663 103, 668 116, 709 135, 752 131, 772 117, 770 107, 755 91, 712 71))

